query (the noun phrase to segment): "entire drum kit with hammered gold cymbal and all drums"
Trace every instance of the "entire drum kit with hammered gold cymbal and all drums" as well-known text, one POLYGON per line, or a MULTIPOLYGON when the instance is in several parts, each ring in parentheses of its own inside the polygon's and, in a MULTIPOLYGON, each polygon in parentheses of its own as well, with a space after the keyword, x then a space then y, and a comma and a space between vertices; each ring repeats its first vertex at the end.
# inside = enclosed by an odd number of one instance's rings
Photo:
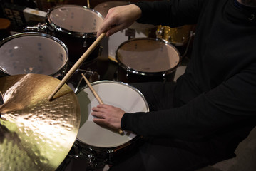
POLYGON ((96 60, 103 40, 119 66, 117 81, 91 81, 103 103, 128 113, 148 112, 144 96, 128 83, 173 80, 180 53, 164 38, 148 37, 155 26, 135 23, 112 39, 104 33, 96 38, 108 9, 124 4, 54 6, 45 24, 0 41, 1 170, 58 170, 68 157, 86 158, 93 170, 140 143, 134 133, 120 135, 93 123, 96 95, 89 86, 68 85, 81 66, 96 60))

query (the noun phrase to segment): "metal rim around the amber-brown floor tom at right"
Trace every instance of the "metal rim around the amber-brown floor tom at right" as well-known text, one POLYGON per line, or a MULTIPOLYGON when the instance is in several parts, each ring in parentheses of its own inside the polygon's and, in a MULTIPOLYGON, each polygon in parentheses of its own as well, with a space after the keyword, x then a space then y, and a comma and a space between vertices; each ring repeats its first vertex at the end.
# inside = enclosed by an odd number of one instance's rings
POLYGON ((165 41, 163 39, 160 38, 132 38, 128 41, 124 41, 123 43, 121 43, 118 48, 116 49, 116 61, 118 61, 118 66, 121 66, 121 68, 125 69, 126 71, 128 71, 129 73, 135 73, 139 76, 166 76, 169 73, 173 73, 179 66, 180 64, 180 60, 181 60, 181 56, 180 56, 180 52, 178 51, 177 48, 175 48, 175 46, 173 46, 171 43, 169 43, 168 41, 165 41), (118 58, 118 50, 121 48, 121 46, 123 46, 124 44, 130 42, 130 41, 138 41, 138 40, 150 40, 150 41, 160 41, 162 43, 165 43, 165 45, 168 45, 170 47, 172 47, 175 52, 178 54, 178 63, 175 64, 175 66, 173 68, 170 68, 166 71, 159 71, 159 72, 144 72, 144 71, 137 71, 133 68, 130 68, 128 66, 126 66, 125 63, 123 63, 119 58, 118 58))

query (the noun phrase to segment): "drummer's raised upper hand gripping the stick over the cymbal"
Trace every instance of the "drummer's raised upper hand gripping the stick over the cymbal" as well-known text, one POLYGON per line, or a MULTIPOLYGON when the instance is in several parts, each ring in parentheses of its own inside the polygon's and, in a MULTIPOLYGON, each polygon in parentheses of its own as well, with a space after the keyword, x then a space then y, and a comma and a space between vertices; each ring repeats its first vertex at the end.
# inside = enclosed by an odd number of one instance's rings
POLYGON ((128 28, 141 16, 141 10, 135 4, 116 6, 108 10, 108 14, 103 21, 103 24, 98 29, 97 36, 106 32, 106 36, 111 36, 113 33, 128 28))

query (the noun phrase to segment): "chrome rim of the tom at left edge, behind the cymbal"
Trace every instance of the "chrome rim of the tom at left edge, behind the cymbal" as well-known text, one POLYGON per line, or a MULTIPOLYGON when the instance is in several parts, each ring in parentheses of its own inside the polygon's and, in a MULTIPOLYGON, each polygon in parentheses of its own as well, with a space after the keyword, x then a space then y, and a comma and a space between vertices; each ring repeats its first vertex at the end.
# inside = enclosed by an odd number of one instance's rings
MULTIPOLYGON (((55 73, 51 73, 51 75, 48 75, 48 76, 56 77, 56 76, 58 76, 58 74, 61 72, 62 69, 66 70, 66 66, 68 65, 68 48, 67 48, 66 44, 63 43, 60 39, 58 39, 54 36, 51 36, 49 34, 46 34, 46 33, 38 33, 38 32, 16 33, 16 34, 11 35, 7 38, 4 38, 2 41, 0 41, 0 48, 1 48, 1 46, 4 45, 4 43, 6 43, 8 41, 11 41, 14 38, 20 38, 20 37, 24 37, 24 36, 46 37, 46 38, 50 38, 51 40, 56 41, 57 43, 59 43, 64 48, 64 50, 66 51, 66 60, 63 62, 62 66, 60 68, 58 68, 58 70, 55 73)), ((0 71, 3 72, 4 75, 6 75, 6 76, 11 76, 11 74, 8 73, 6 70, 4 70, 4 68, 2 68, 1 66, 0 66, 0 71)))

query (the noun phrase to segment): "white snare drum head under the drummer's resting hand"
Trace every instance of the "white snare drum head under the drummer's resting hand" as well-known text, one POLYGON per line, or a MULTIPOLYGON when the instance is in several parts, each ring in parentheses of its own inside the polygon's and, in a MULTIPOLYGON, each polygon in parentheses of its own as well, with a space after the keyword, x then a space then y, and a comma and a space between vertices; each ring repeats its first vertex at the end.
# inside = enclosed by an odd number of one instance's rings
MULTIPOLYGON (((148 103, 143 98, 143 95, 127 84, 113 81, 97 81, 92 83, 92 86, 105 104, 116 106, 128 113, 148 112, 148 103)), ((102 128, 93 122, 91 110, 99 103, 88 87, 83 88, 76 95, 81 108, 78 141, 93 147, 109 148, 124 145, 135 138, 136 135, 133 133, 125 132, 125 135, 120 135, 116 131, 102 128)))

